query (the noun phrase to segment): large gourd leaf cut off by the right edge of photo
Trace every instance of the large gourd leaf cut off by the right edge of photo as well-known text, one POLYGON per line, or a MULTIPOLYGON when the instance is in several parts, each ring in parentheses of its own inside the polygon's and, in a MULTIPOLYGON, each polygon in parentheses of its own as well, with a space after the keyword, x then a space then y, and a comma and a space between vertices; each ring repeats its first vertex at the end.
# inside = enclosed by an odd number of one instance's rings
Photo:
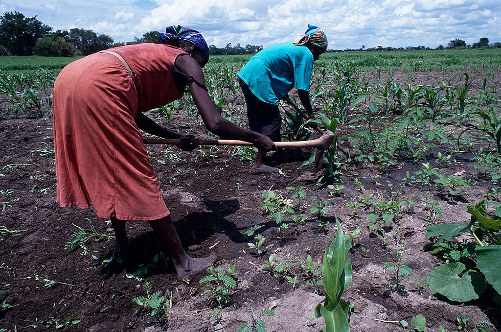
POLYGON ((485 280, 501 294, 501 246, 476 246, 476 265, 485 280))

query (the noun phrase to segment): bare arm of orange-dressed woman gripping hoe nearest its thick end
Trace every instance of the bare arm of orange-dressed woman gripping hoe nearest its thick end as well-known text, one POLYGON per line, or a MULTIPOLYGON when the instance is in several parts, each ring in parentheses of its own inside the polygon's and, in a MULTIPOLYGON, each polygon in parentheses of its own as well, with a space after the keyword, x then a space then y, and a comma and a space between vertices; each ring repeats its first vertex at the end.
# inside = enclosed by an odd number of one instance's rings
MULTIPOLYGON (((195 80, 205 85, 202 69, 193 58, 181 55, 176 58, 175 64, 179 69, 193 76, 195 80)), ((214 102, 203 88, 192 83, 190 85, 190 90, 195 105, 198 108, 198 112, 210 132, 225 138, 252 142, 262 150, 276 149, 275 144, 268 136, 244 129, 219 115, 214 106, 214 102)))

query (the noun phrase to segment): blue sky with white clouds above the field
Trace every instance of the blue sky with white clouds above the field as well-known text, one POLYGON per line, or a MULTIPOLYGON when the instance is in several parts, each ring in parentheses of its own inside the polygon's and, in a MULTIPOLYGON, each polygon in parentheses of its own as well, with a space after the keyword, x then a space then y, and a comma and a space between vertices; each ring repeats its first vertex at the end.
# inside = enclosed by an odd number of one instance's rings
POLYGON ((321 27, 330 49, 444 46, 487 37, 501 42, 499 0, 1 0, 0 13, 18 11, 53 28, 91 29, 115 42, 181 24, 209 45, 265 47, 295 41, 308 24, 321 27))

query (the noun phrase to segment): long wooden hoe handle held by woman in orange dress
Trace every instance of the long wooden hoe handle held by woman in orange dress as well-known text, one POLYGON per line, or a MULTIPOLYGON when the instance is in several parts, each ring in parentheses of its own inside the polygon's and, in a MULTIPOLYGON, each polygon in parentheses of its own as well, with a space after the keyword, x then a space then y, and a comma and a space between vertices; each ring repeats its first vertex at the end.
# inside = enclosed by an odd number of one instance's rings
MULTIPOLYGON (((322 150, 328 150, 334 140, 334 133, 327 130, 321 137, 311 140, 299 140, 292 142, 275 142, 277 147, 315 147, 322 150)), ((179 145, 179 138, 143 138, 145 144, 173 144, 179 145)), ((253 143, 235 139, 200 139, 199 145, 249 145, 253 143)))

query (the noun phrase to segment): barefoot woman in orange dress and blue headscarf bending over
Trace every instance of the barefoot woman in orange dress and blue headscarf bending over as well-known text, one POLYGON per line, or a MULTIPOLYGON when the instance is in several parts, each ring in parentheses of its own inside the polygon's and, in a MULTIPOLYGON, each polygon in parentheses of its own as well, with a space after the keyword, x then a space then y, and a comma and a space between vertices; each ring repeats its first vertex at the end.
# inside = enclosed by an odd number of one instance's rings
POLYGON ((208 130, 216 135, 275 149, 267 136, 222 118, 204 85, 201 68, 208 47, 195 30, 172 26, 162 44, 120 46, 66 66, 54 84, 54 146, 57 201, 61 207, 93 206, 109 218, 118 257, 127 257, 125 221, 148 221, 166 246, 180 279, 215 261, 184 251, 151 166, 139 129, 181 138, 184 150, 198 138, 169 131, 143 112, 181 98, 188 86, 208 130))

